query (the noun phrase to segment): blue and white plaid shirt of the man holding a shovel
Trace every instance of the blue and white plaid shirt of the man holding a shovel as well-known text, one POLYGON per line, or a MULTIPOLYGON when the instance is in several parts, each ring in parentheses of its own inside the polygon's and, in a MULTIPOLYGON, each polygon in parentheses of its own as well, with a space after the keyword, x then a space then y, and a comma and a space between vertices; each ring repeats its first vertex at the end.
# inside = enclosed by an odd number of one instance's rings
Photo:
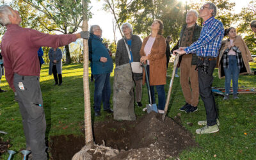
POLYGON ((196 42, 186 47, 186 54, 196 53, 200 57, 217 57, 221 47, 221 41, 224 36, 223 24, 220 20, 211 17, 203 23, 200 37, 196 42))

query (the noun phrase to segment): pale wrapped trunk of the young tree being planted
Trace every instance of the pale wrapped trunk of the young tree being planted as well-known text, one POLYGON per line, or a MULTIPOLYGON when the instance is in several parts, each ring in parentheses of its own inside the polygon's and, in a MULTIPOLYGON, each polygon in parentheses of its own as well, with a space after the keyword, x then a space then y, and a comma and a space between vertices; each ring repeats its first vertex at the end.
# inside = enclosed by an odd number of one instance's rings
MULTIPOLYGON (((87 8, 88 4, 86 0, 83 0, 83 31, 88 31, 88 19, 87 19, 87 8)), ((83 40, 84 47, 84 131, 85 131, 85 142, 86 144, 93 143, 92 136, 92 120, 91 120, 91 103, 90 103, 90 88, 89 88, 89 75, 88 75, 88 61, 89 61, 89 52, 88 52, 88 40, 83 40)))

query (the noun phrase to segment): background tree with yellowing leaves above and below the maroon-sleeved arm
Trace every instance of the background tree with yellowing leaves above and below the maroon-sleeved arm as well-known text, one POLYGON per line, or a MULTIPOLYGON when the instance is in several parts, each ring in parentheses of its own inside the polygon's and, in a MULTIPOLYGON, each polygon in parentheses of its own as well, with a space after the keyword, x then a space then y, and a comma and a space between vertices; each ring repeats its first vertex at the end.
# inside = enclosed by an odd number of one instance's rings
MULTIPOLYGON (((40 12, 39 14, 35 14, 36 20, 48 31, 72 34, 77 31, 83 20, 81 14, 83 12, 83 6, 81 4, 81 0, 23 1, 40 12)), ((88 14, 90 15, 90 12, 88 12, 88 14)), ((65 52, 66 63, 71 63, 72 61, 68 45, 65 46, 65 52)))

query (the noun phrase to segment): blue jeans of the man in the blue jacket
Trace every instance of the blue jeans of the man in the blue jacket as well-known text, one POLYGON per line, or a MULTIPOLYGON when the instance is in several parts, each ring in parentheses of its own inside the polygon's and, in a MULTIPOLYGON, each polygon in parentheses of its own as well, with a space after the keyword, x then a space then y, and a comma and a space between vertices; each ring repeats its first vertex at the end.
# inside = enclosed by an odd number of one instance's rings
POLYGON ((100 111, 101 101, 103 109, 110 108, 109 99, 111 94, 110 88, 110 73, 108 74, 94 74, 95 90, 94 90, 94 111, 100 111))

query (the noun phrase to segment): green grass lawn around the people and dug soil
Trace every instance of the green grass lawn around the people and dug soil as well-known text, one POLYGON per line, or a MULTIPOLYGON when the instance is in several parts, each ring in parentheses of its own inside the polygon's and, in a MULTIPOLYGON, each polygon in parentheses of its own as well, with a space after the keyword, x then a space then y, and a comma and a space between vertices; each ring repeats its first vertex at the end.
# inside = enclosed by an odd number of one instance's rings
MULTIPOLYGON (((256 68, 256 63, 250 63, 256 68)), ((168 68, 168 75, 172 74, 172 66, 168 68)), ((83 65, 63 65, 63 86, 54 86, 53 76, 48 75, 48 66, 43 65, 40 77, 41 89, 44 99, 45 118, 47 121, 46 136, 61 134, 82 134, 84 119, 83 103, 83 65)), ((113 83, 113 73, 111 74, 113 83)), ((167 79, 165 86, 168 93, 167 79)), ((256 87, 256 76, 240 76, 239 87, 256 87)), ((214 71, 215 87, 224 87, 225 79, 218 79, 218 70, 214 71)), ((22 129, 22 118, 19 105, 14 101, 14 94, 9 88, 5 78, 2 78, 0 87, 8 92, 0 93, 0 130, 8 134, 1 134, 4 141, 10 140, 10 150, 19 151, 26 147, 22 129)), ((93 106, 94 84, 90 82, 91 106, 93 106)), ((112 95, 111 95, 112 96, 112 95)), ((111 99, 112 102, 112 99, 111 99)), ((142 103, 147 104, 147 88, 143 86, 142 103)), ((205 109, 202 100, 198 104, 196 113, 181 113, 182 124, 195 137, 200 145, 198 148, 189 148, 180 154, 180 159, 256 159, 256 95, 239 95, 238 100, 223 101, 223 97, 216 96, 216 104, 220 113, 220 132, 208 135, 198 135, 198 120, 205 120, 205 109), (189 127, 187 122, 194 125, 189 127), (246 133, 246 134, 244 134, 246 133), (216 157, 214 157, 216 154, 216 157)), ((179 108, 184 105, 184 97, 179 84, 179 78, 173 82, 172 98, 168 110, 168 116, 175 116, 179 108)), ((135 108, 137 116, 145 113, 141 108, 135 108)), ((102 112, 102 116, 95 118, 92 108, 92 121, 99 122, 107 119, 108 113, 102 112)), ((1 159, 7 159, 8 154, 3 154, 1 159)), ((14 159, 20 159, 15 155, 14 159)))

